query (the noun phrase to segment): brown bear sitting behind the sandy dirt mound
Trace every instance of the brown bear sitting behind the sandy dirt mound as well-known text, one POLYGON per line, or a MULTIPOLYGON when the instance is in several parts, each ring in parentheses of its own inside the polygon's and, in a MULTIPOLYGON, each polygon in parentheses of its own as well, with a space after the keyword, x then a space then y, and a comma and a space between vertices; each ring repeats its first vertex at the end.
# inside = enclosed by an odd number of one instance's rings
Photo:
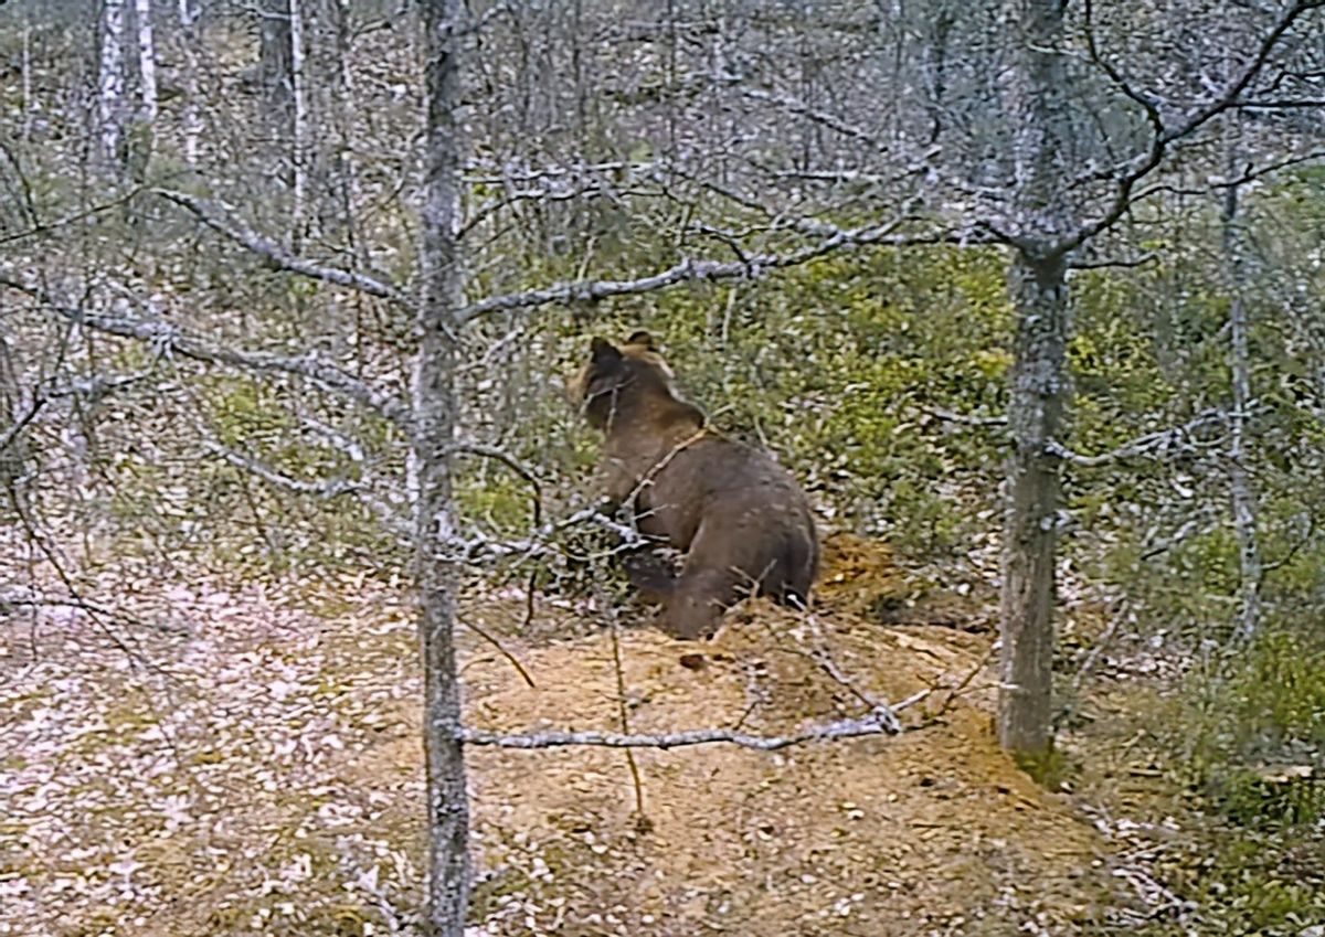
POLYGON ((648 332, 620 347, 594 339, 590 355, 571 390, 607 437, 608 495, 633 510, 641 533, 686 553, 678 576, 661 560, 628 564, 635 585, 662 602, 662 630, 712 638, 722 613, 750 594, 804 607, 819 540, 790 472, 709 429, 677 396, 648 332))

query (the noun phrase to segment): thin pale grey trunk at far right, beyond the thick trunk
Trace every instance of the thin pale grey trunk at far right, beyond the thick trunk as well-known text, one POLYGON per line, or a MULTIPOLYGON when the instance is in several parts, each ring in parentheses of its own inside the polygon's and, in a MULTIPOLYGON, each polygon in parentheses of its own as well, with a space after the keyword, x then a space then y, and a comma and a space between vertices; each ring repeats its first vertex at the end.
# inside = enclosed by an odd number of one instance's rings
MULTIPOLYGON (((1230 183, 1242 171, 1242 116, 1232 111, 1224 118, 1227 176, 1230 183)), ((1251 351, 1248 348, 1247 304, 1243 302, 1242 237, 1238 226, 1238 185, 1230 184, 1224 192, 1222 218, 1226 287, 1232 303, 1228 310, 1231 337, 1230 369, 1232 377, 1234 408, 1228 426, 1228 488, 1234 511, 1234 532, 1238 536, 1238 564, 1240 573, 1240 607, 1238 633, 1249 637, 1260 623, 1260 545, 1256 536, 1256 494, 1247 472, 1247 412, 1251 406, 1251 351)))

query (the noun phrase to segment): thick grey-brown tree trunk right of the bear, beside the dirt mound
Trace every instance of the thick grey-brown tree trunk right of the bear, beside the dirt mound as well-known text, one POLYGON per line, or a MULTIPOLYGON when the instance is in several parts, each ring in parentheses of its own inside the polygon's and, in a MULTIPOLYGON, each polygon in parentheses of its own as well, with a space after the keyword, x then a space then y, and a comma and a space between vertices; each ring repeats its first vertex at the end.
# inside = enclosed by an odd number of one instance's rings
POLYGON ((1055 562, 1061 466, 1051 454, 1068 401, 1067 258, 1071 224, 1061 200, 1067 111, 1060 0, 1010 0, 1014 64, 1008 116, 1014 127, 1018 246, 1008 289, 1016 348, 1008 425, 1007 517, 1003 543, 999 741, 1031 764, 1048 754, 1053 662, 1055 562))

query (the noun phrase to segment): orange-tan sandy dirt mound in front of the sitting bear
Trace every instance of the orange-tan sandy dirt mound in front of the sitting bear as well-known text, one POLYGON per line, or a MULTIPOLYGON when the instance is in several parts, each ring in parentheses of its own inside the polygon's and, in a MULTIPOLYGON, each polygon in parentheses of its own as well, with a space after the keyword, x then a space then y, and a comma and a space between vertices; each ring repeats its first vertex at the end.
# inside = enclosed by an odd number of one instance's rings
MULTIPOLYGON (((934 712, 942 687, 980 670, 987 643, 827 611, 818 623, 759 603, 704 646, 623 634, 631 731, 784 735, 863 713, 856 692, 897 700, 926 687, 937 692, 906 721, 935 721, 780 753, 640 752, 643 827, 620 752, 472 750, 493 875, 480 895, 506 921, 490 932, 1014 933, 1036 917, 1063 928, 1092 916, 1104 892, 1083 881, 1098 848, 1089 826, 1008 764, 983 693, 934 712), (825 648, 856 692, 824 672, 825 648), (702 668, 678 663, 689 651, 702 668)), ((525 663, 535 690, 497 660, 470 667, 472 724, 620 728, 607 638, 530 650, 525 663)))

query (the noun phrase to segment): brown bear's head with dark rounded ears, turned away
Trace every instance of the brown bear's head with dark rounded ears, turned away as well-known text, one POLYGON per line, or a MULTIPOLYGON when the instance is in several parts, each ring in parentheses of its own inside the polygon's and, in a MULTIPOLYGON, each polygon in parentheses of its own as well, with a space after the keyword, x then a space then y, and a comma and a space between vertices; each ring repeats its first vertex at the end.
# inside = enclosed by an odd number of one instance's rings
POLYGON ((595 429, 682 420, 702 425, 704 416, 676 393, 674 376, 648 332, 632 332, 621 345, 595 337, 590 360, 570 384, 571 397, 595 429))

